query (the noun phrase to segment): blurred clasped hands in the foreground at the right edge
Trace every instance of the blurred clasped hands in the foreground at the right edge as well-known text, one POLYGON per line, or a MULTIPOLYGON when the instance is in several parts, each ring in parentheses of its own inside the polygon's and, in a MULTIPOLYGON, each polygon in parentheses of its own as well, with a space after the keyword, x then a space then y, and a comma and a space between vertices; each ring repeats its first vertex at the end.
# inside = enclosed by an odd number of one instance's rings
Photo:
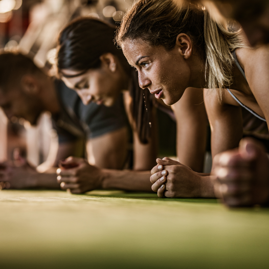
POLYGON ((216 196, 229 207, 269 201, 269 160, 253 139, 242 139, 239 148, 216 155, 212 175, 216 196))

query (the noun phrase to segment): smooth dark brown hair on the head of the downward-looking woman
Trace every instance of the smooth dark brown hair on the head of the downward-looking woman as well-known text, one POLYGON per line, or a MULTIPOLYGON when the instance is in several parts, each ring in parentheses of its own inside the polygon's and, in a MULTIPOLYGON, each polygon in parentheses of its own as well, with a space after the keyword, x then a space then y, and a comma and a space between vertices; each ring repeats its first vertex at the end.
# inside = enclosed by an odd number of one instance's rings
POLYGON ((126 65, 121 50, 114 44, 116 28, 102 20, 82 17, 71 21, 58 38, 57 72, 70 69, 85 73, 89 69, 97 69, 101 65, 100 56, 104 53, 114 54, 122 64, 126 65))

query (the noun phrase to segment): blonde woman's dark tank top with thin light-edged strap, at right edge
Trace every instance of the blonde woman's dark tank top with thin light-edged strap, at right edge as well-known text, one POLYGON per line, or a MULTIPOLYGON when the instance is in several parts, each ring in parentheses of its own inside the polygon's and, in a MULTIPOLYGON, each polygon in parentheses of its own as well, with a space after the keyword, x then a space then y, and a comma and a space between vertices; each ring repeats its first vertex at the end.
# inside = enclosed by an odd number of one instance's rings
MULTIPOLYGON (((243 77, 246 80, 244 70, 242 69, 241 65, 239 64, 239 62, 237 60, 235 51, 233 52, 233 57, 234 57, 235 64, 236 64, 237 68, 240 70, 241 74, 243 75, 243 77)), ((259 116, 251 108, 244 105, 236 96, 233 95, 233 93, 230 91, 230 89, 227 89, 227 91, 234 98, 234 100, 238 104, 240 104, 240 106, 242 108, 244 108, 244 109, 242 109, 244 136, 255 136, 257 138, 269 140, 269 132, 268 132, 266 120, 264 118, 262 118, 261 116, 259 116)))

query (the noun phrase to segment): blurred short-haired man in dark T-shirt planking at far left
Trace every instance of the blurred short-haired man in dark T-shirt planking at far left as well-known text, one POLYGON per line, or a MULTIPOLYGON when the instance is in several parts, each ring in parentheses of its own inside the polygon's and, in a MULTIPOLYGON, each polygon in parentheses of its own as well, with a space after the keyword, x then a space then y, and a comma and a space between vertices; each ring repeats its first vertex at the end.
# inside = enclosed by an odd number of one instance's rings
POLYGON ((74 154, 84 156, 84 141, 93 165, 124 167, 128 127, 121 96, 111 107, 95 103, 84 106, 74 91, 39 69, 29 57, 19 52, 2 52, 0 106, 8 119, 24 118, 32 125, 36 125, 41 113, 50 112, 59 140, 58 148, 51 144, 51 159, 37 169, 26 162, 19 166, 1 164, 0 182, 8 183, 10 188, 59 188, 58 161, 74 154))

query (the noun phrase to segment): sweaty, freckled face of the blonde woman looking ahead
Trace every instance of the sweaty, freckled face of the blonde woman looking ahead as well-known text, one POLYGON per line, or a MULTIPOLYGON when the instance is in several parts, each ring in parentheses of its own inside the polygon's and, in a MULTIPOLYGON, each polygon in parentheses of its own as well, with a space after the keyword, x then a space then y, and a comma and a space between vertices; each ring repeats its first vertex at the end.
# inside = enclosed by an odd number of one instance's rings
POLYGON ((163 46, 150 46, 142 39, 127 39, 122 50, 129 64, 136 68, 141 88, 148 88, 167 105, 181 99, 189 84, 190 69, 177 46, 167 51, 163 46))

